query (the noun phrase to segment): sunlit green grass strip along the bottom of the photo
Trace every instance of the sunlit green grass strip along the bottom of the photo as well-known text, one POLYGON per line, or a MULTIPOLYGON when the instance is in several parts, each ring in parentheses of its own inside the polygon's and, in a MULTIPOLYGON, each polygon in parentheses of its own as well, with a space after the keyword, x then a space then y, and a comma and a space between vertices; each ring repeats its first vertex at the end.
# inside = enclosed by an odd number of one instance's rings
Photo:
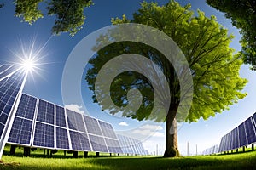
MULTIPOLYGON (((6 151, 5 151, 6 153, 6 151)), ((218 156, 162 158, 155 156, 101 156, 52 158, 4 155, 0 169, 256 169, 256 151, 218 156)), ((62 156, 62 157, 61 157, 62 156)))

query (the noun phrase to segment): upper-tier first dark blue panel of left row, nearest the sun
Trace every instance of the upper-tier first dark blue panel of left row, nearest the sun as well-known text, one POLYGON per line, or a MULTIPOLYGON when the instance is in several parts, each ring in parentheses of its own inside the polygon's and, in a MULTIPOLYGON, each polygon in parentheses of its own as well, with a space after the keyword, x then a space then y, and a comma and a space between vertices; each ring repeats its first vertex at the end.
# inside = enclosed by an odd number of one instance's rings
POLYGON ((33 120, 35 115, 35 109, 37 105, 37 99, 32 96, 22 94, 16 116, 25 117, 33 120))

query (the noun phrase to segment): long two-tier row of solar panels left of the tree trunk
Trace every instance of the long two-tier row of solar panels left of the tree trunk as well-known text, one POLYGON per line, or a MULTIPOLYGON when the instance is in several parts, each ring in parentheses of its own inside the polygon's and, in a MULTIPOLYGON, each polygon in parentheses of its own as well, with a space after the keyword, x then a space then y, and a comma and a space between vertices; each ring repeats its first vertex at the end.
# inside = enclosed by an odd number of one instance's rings
POLYGON ((22 94, 9 144, 56 150, 145 155, 137 139, 119 135, 108 122, 22 94))

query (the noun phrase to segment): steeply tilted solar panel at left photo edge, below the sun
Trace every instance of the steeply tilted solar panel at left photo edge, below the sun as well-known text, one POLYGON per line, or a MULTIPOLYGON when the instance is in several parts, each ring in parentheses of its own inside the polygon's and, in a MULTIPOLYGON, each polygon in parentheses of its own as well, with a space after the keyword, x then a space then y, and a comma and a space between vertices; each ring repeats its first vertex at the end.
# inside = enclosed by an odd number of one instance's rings
POLYGON ((0 72, 0 158, 15 119, 25 74, 14 65, 1 65, 0 72))

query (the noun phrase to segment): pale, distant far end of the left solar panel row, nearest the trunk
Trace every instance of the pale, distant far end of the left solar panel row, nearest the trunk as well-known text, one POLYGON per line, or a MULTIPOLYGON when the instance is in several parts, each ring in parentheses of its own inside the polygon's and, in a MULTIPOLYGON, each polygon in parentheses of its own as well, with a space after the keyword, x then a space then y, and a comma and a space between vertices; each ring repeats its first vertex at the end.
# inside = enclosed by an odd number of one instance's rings
POLYGON ((118 134, 119 143, 125 154, 148 155, 140 140, 118 134))

